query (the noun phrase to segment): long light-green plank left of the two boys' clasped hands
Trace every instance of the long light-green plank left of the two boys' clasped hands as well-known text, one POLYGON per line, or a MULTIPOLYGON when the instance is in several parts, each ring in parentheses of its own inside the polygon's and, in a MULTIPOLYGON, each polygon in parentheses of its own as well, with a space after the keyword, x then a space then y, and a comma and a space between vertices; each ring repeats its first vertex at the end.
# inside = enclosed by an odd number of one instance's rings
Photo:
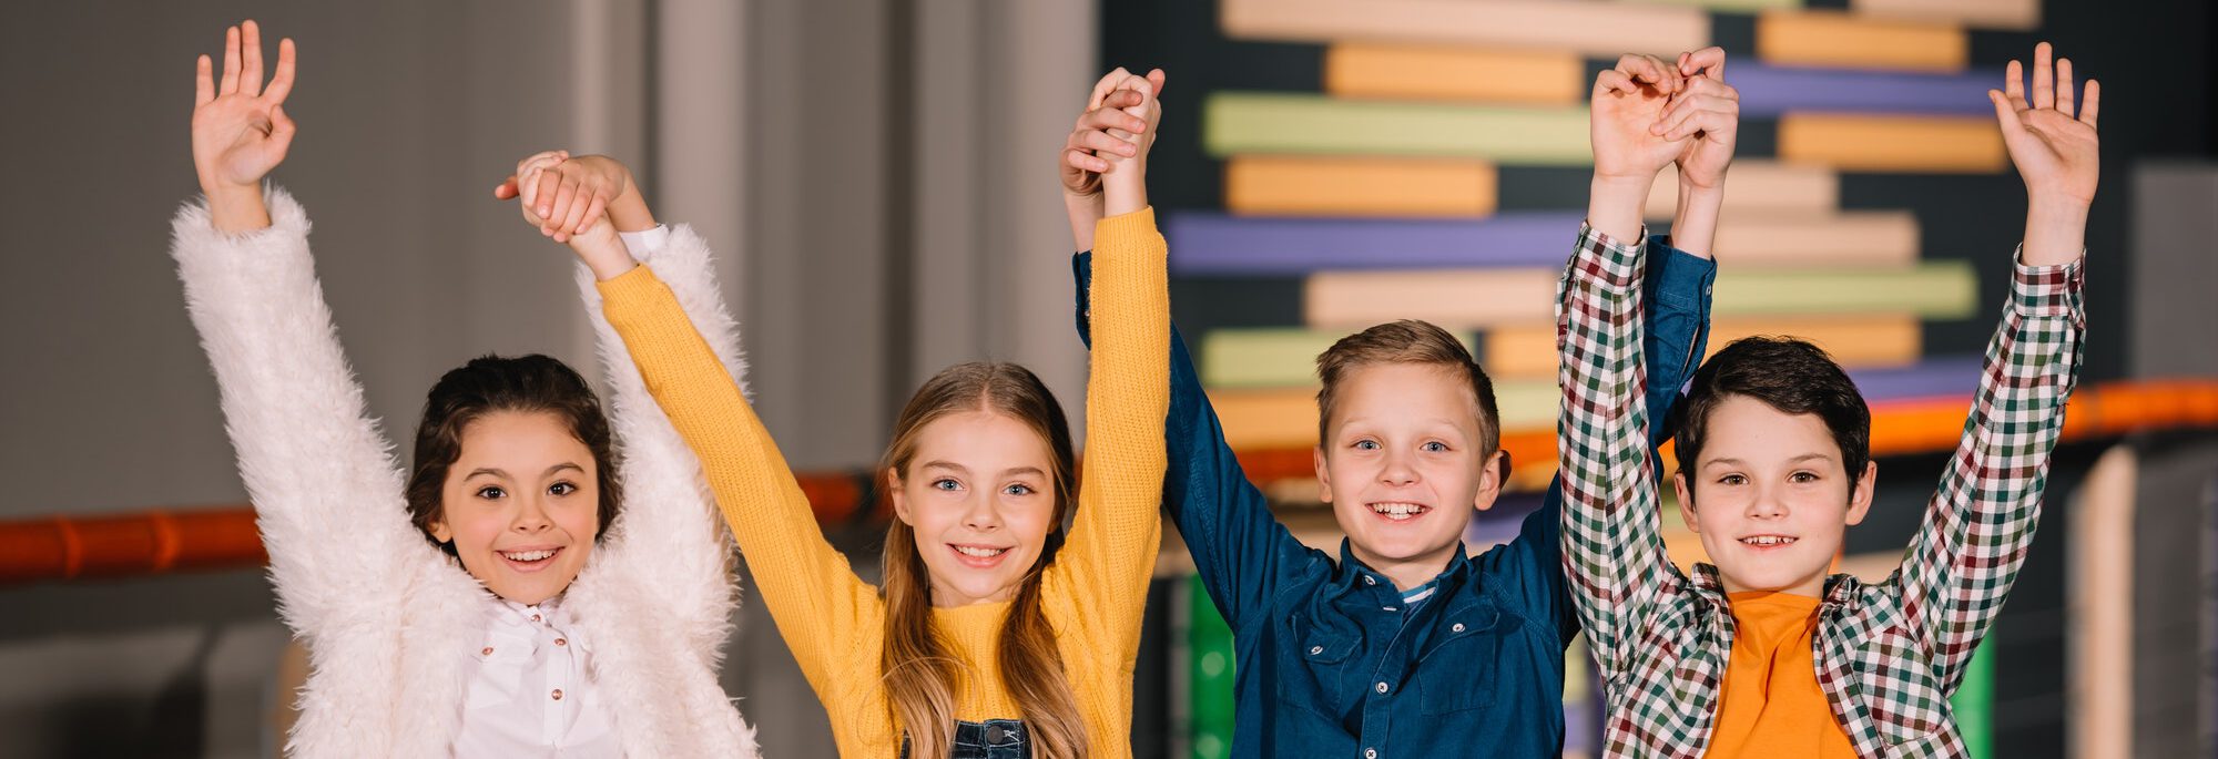
POLYGON ((1329 153, 1486 158, 1524 166, 1586 166, 1586 109, 1333 100, 1300 93, 1211 93, 1202 104, 1211 155, 1329 153))

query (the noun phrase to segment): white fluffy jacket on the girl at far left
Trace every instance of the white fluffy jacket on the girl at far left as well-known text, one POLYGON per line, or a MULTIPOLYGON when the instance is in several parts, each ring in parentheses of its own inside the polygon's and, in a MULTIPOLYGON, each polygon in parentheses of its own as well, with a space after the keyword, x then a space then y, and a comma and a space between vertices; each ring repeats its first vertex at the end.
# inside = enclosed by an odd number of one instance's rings
MULTIPOLYGON (((268 191, 271 229, 224 235, 186 204, 171 253, 215 366, 240 477, 255 502, 279 613, 313 672, 286 750, 297 757, 444 757, 488 590, 408 522, 406 473, 368 417, 308 255, 308 217, 268 191), (344 546, 344 550, 335 550, 344 546)), ((739 328, 710 251, 685 226, 645 264, 676 291, 734 377, 739 328)), ((614 388, 625 504, 563 597, 594 641, 592 679, 623 752, 754 757, 754 730, 716 681, 730 632, 730 537, 701 466, 579 286, 614 388)))

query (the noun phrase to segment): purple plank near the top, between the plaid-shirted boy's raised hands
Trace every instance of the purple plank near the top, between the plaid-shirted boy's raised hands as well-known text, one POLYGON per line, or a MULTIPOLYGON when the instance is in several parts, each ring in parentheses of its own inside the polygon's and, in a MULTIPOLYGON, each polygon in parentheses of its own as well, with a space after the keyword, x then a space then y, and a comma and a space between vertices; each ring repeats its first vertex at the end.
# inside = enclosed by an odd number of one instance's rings
POLYGON ((1726 64, 1726 84, 1741 91, 1746 118, 1790 111, 1994 115, 1987 91, 2003 87, 2003 69, 1899 73, 1766 67, 1734 58, 1726 64))

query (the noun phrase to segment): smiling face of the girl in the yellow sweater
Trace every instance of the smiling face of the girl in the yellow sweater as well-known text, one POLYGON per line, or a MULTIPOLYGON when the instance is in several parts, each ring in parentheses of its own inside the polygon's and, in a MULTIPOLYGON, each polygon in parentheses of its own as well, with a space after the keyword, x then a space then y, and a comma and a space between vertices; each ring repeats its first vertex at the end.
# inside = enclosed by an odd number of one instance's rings
POLYGON ((887 479, 932 575, 932 606, 1016 597, 1056 528, 1051 455, 1040 433, 994 411, 918 428, 907 470, 887 479))

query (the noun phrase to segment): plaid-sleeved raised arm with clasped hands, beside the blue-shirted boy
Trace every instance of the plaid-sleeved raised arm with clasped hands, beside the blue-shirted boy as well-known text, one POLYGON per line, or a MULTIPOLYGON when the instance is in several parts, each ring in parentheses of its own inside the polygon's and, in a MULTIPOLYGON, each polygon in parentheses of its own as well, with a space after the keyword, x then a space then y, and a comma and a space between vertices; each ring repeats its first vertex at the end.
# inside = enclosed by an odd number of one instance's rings
MULTIPOLYGON (((1641 360, 1648 242, 1639 237, 1639 213, 1655 173, 1675 160, 1683 173, 1721 189, 1737 131, 1737 95, 1723 87, 1721 67, 1719 49, 1681 55, 1677 64, 1626 55, 1597 75, 1593 91, 1588 229, 1557 297, 1564 386, 1557 451, 1564 573, 1606 681, 1624 675, 1655 601, 1683 581, 1659 533, 1641 360), (1703 146, 1706 140, 1715 144, 1703 146)), ((1706 253, 1721 198, 1681 193, 1679 240, 1706 253)), ((1688 351, 1668 366, 1683 373, 1695 360, 1688 351)))

